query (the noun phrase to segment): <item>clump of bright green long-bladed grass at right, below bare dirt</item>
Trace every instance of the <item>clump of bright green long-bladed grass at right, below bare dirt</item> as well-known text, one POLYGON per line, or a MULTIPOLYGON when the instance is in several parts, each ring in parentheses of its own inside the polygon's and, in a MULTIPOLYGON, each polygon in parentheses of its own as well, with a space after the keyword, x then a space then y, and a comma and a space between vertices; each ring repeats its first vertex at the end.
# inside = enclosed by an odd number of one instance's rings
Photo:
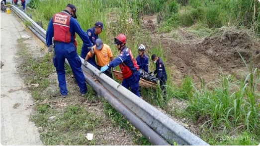
POLYGON ((210 129, 224 127, 224 131, 232 131, 234 127, 241 126, 260 135, 260 94, 252 89, 251 82, 254 89, 259 87, 259 69, 239 81, 231 75, 222 74, 217 82, 202 85, 201 89, 193 86, 195 92, 189 97, 188 108, 197 111, 198 118, 206 117, 203 126, 210 129), (207 86, 214 89, 208 90, 207 86))

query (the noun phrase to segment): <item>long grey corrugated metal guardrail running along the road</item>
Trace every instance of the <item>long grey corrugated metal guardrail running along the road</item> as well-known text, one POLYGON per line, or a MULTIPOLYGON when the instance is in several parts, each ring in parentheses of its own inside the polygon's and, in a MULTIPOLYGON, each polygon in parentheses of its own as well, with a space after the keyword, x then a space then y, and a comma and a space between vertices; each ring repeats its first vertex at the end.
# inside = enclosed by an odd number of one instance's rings
MULTIPOLYGON (((23 21, 29 22, 31 25, 27 25, 27 27, 43 43, 46 43, 46 31, 44 29, 17 7, 11 5, 11 10, 23 21)), ((81 60, 86 82, 153 145, 173 145, 174 142, 178 145, 208 145, 154 106, 101 73, 91 64, 85 64, 83 58, 81 60)))

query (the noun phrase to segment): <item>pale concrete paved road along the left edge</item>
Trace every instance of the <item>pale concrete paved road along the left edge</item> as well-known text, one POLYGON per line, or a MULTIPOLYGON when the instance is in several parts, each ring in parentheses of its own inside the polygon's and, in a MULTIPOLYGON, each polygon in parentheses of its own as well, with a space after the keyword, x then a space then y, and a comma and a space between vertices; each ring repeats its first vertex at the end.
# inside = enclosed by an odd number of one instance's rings
MULTIPOLYGON (((29 34, 13 14, 0 13, 1 19, 1 49, 0 59, 4 63, 1 71, 1 145, 43 145, 37 127, 29 121, 32 108, 26 106, 33 103, 30 93, 17 90, 24 87, 24 81, 18 76, 15 66, 17 43, 22 35, 29 34), (10 29, 12 28, 12 29, 10 29), (9 93, 10 90, 17 90, 9 93), (14 104, 19 105, 13 108, 14 104)), ((33 40, 28 40, 33 43, 33 40)), ((26 42, 27 43, 27 42, 26 42)), ((16 59, 17 60, 17 59, 16 59)))

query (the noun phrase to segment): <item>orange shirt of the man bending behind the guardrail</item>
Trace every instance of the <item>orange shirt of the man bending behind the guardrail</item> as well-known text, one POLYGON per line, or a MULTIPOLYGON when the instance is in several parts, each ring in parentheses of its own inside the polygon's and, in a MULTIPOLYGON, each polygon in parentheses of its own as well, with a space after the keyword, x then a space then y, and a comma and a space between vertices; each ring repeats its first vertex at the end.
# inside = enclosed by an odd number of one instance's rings
MULTIPOLYGON (((110 47, 106 44, 103 44, 103 48, 101 50, 97 50, 96 46, 94 46, 94 53, 96 55, 96 64, 101 67, 108 64, 110 62, 110 57, 113 57, 110 47)), ((90 51, 87 55, 91 56, 90 51)))

